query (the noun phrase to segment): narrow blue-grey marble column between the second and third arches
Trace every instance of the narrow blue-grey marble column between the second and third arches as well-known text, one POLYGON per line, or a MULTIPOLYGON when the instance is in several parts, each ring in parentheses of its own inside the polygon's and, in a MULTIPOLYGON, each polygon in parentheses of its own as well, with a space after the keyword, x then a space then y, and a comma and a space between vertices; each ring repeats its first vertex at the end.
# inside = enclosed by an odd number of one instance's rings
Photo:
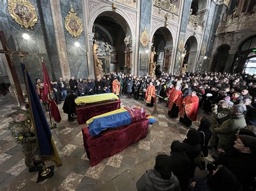
POLYGON ((176 53, 176 61, 174 65, 174 74, 180 74, 181 69, 181 54, 183 53, 184 45, 185 45, 185 35, 187 30, 188 18, 190 16, 190 6, 191 1, 184 1, 183 2, 183 9, 180 12, 181 22, 180 22, 180 31, 179 31, 179 38, 178 38, 178 47, 179 45, 182 46, 182 49, 177 49, 176 53), (184 41, 184 44, 181 44, 181 41, 184 41))

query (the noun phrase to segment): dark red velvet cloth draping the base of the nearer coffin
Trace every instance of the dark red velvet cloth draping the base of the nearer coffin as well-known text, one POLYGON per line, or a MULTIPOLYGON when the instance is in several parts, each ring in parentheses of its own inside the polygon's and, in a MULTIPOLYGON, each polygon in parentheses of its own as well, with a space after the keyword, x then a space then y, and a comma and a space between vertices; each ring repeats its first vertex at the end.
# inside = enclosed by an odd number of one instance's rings
POLYGON ((149 119, 143 118, 129 125, 120 126, 120 128, 108 129, 95 137, 90 136, 87 127, 82 128, 84 147, 90 159, 90 165, 95 166, 104 158, 109 158, 132 143, 145 138, 148 122, 149 119))

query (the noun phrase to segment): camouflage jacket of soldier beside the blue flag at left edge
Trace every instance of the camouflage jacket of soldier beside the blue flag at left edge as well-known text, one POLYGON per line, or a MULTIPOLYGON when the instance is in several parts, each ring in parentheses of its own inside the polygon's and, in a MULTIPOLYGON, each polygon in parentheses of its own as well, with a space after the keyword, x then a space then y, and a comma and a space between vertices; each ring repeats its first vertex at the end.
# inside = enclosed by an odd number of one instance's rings
POLYGON ((32 128, 29 121, 13 121, 9 124, 8 129, 11 131, 12 137, 15 138, 16 142, 19 145, 36 142, 36 137, 35 134, 32 132, 32 128))

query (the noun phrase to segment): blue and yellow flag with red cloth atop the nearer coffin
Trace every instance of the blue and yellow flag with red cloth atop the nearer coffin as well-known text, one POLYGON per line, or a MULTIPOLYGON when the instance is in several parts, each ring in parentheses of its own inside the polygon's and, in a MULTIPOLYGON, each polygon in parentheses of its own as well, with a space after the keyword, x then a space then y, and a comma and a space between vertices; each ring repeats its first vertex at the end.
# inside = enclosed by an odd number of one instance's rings
POLYGON ((121 108, 90 118, 86 123, 89 125, 90 136, 96 136, 107 128, 118 128, 129 125, 145 117, 143 108, 121 108))

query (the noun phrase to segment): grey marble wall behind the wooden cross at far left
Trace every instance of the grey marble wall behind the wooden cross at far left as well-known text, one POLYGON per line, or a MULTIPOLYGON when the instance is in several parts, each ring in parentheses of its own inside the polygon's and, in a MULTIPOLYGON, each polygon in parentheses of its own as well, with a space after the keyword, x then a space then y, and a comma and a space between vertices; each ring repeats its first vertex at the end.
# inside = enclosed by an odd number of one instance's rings
MULTIPOLYGON (((42 1, 43 4, 47 1, 42 1)), ((52 78, 50 59, 48 57, 48 52, 46 50, 45 44, 45 33, 43 31, 43 20, 39 16, 38 9, 41 6, 37 6, 36 0, 31 0, 30 3, 35 6, 36 13, 38 16, 38 22, 33 27, 33 30, 22 29, 19 24, 13 20, 8 11, 8 2, 7 0, 0 1, 0 30, 4 31, 6 39, 8 41, 8 46, 10 50, 16 50, 19 44, 21 51, 29 52, 29 55, 24 56, 24 62, 28 71, 31 75, 32 80, 36 77, 42 77, 42 65, 41 65, 41 56, 43 55, 46 68, 48 69, 49 75, 52 78), (22 38, 23 33, 28 33, 30 35, 29 40, 22 38)), ((45 6, 46 15, 51 15, 47 6, 45 6)), ((52 43, 52 42, 51 42, 52 43)), ((54 43, 54 42, 53 42, 54 43)), ((19 81, 23 83, 21 66, 19 64, 19 59, 17 55, 14 55, 14 64, 17 70, 19 81)))

